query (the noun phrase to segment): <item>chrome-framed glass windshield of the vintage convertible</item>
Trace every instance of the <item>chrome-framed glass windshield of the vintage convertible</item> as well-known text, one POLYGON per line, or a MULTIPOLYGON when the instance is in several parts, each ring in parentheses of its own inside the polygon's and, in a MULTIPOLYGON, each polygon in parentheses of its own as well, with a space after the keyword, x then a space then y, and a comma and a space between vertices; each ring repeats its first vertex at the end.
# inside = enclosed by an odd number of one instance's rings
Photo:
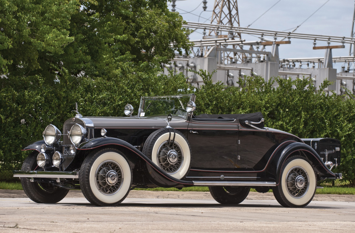
POLYGON ((178 96, 146 96, 141 98, 138 116, 167 116, 169 113, 186 119, 187 103, 193 94, 178 96))

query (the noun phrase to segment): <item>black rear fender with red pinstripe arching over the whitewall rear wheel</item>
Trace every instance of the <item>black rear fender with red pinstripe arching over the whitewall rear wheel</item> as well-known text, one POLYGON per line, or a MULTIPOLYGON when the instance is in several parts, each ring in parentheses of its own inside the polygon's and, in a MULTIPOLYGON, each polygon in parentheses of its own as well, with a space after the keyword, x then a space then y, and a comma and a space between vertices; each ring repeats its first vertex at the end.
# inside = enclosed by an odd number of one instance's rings
POLYGON ((282 150, 278 151, 275 154, 272 163, 268 167, 268 172, 276 171, 275 175, 277 184, 279 183, 280 172, 283 164, 285 163, 285 160, 297 152, 299 152, 310 161, 316 174, 318 174, 322 180, 326 178, 335 178, 335 174, 329 170, 329 168, 322 161, 321 157, 312 147, 305 143, 293 142, 286 145, 282 150))

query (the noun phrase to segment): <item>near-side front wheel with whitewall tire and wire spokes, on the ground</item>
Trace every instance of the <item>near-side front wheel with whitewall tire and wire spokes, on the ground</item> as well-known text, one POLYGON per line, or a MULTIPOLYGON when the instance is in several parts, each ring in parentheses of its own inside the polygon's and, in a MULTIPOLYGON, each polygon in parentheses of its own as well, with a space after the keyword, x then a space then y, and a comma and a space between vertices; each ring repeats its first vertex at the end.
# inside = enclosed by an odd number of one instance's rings
POLYGON ((116 206, 130 192, 132 169, 117 149, 99 150, 84 159, 79 172, 81 191, 97 206, 116 206))

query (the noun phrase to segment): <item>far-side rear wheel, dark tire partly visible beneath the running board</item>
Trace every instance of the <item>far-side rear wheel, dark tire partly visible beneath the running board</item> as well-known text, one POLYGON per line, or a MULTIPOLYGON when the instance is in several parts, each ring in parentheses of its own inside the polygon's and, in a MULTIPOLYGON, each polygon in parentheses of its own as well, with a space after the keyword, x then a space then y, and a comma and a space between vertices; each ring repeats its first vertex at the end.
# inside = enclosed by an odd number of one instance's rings
POLYGON ((212 186, 208 187, 214 200, 220 204, 239 204, 249 194, 249 187, 212 186))

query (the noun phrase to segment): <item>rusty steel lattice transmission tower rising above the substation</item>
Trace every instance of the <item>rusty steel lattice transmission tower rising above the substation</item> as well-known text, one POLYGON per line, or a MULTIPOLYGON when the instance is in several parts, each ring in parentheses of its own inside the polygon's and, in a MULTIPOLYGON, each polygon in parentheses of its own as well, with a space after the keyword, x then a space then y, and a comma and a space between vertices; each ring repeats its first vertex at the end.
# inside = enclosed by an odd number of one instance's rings
MULTIPOLYGON (((215 0, 211 24, 240 27, 237 0, 215 0)), ((217 30, 210 30, 208 35, 219 35, 219 32, 217 32, 217 30)), ((230 32, 228 37, 241 39, 240 33, 230 32)))

